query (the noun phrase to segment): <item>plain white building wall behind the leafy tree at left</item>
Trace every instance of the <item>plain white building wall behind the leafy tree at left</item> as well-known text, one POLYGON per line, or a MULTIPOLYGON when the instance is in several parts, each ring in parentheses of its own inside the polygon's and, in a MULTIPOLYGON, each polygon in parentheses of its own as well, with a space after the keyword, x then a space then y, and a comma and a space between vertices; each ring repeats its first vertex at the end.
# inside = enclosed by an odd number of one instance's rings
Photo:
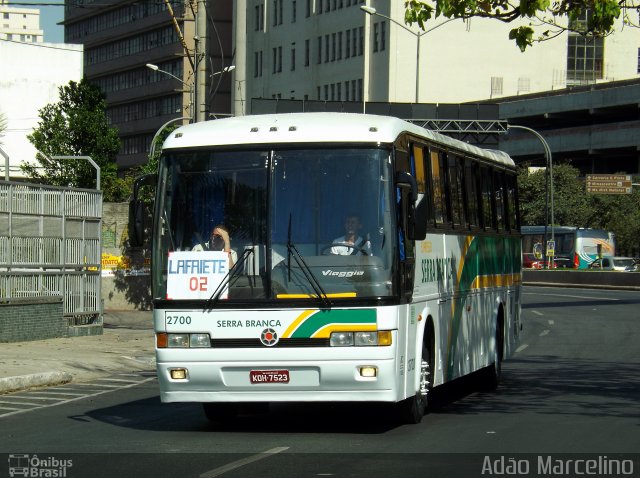
POLYGON ((35 161, 27 135, 38 126, 38 111, 59 100, 61 86, 82 79, 82 52, 82 45, 0 41, 0 111, 7 121, 0 148, 9 156, 10 178, 23 177, 20 164, 35 161))

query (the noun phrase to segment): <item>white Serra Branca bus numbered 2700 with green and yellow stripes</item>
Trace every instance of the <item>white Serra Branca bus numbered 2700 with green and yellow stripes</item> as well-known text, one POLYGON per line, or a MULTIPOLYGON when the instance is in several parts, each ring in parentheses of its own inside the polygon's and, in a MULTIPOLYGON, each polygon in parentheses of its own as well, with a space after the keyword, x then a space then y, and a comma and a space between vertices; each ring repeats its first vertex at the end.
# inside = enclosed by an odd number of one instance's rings
POLYGON ((257 115, 175 130, 149 179, 163 402, 212 420, 387 402, 417 423, 432 387, 480 370, 497 386, 521 330, 508 155, 390 117, 257 115), (354 216, 359 240, 336 247, 354 216), (192 250, 216 225, 234 261, 192 250))

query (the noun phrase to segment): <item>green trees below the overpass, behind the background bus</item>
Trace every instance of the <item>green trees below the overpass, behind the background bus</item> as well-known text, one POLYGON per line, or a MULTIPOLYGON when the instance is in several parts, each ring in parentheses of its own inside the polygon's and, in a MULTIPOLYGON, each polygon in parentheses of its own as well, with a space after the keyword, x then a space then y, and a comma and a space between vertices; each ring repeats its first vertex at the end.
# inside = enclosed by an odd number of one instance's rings
MULTIPOLYGON (((527 165, 519 168, 523 225, 545 224, 545 182, 545 170, 530 174, 527 165)), ((554 165, 553 186, 554 225, 606 229, 616 235, 618 252, 630 254, 640 250, 640 190, 637 187, 632 194, 589 194, 578 169, 568 164, 554 165)), ((548 224, 550 221, 549 217, 548 224)))

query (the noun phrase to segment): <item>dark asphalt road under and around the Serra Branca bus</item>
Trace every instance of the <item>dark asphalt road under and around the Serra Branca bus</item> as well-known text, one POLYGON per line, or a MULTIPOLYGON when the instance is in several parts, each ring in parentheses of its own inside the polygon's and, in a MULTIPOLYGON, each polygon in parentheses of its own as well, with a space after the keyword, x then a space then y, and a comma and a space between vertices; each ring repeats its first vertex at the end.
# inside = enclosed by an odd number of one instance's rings
POLYGON ((525 288, 498 391, 448 384, 413 426, 384 407, 300 404, 213 425, 199 405, 161 404, 152 374, 10 395, 46 405, 0 416, 0 476, 25 459, 68 477, 474 477, 509 463, 575 476, 576 456, 640 476, 639 305, 638 292, 525 288))

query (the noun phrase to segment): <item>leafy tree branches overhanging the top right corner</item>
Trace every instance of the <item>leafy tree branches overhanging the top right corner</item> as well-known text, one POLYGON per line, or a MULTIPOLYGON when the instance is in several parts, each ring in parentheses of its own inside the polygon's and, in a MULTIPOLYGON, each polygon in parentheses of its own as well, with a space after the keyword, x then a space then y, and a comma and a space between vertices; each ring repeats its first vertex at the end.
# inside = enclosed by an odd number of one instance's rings
POLYGON ((554 38, 564 31, 606 36, 620 15, 625 25, 638 27, 639 11, 638 0, 410 0, 405 1, 405 22, 417 23, 424 30, 427 21, 438 17, 493 18, 505 23, 528 20, 528 25, 515 27, 509 33, 509 39, 524 51, 533 42, 554 38), (583 18, 586 21, 580 21, 583 18))

